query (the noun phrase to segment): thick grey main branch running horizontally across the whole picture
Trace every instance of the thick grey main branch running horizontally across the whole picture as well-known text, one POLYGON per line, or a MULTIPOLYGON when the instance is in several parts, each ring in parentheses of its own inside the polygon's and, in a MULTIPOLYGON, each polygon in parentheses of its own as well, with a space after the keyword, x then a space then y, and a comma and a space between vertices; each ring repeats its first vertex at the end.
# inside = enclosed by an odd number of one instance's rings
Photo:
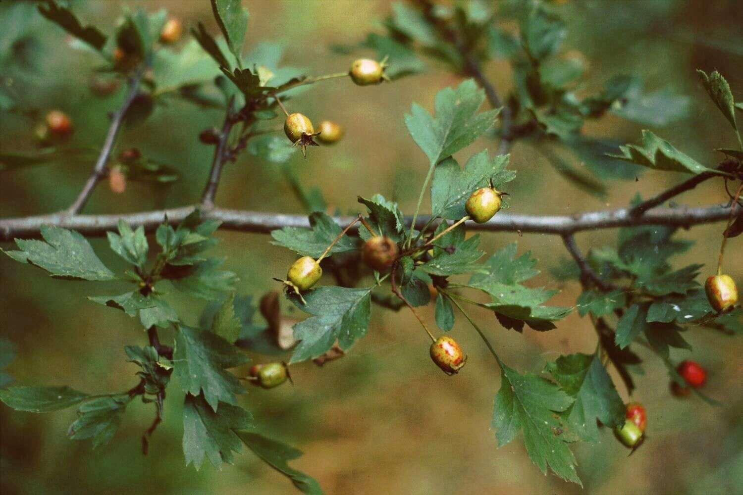
MULTIPOLYGON (((197 206, 184 206, 175 209, 137 212, 127 214, 69 215, 65 213, 42 214, 32 217, 5 218, 0 220, 0 241, 12 240, 13 237, 38 237, 42 225, 53 225, 74 229, 86 236, 104 235, 108 230, 116 229, 119 219, 131 226, 144 226, 153 231, 163 222, 166 215, 170 223, 179 223, 197 206)), ((743 208, 736 207, 736 216, 743 214, 743 208)), ((487 223, 467 222, 470 230, 489 232, 529 232, 554 235, 571 235, 574 232, 594 229, 611 229, 635 225, 666 225, 690 227, 699 223, 712 223, 727 220, 730 207, 727 205, 707 206, 704 208, 656 208, 640 217, 633 217, 630 209, 620 208, 598 212, 585 212, 574 215, 528 215, 499 213, 487 223)), ((231 209, 205 209, 204 218, 220 220, 221 229, 239 232, 267 234, 282 227, 309 227, 306 215, 250 212, 231 209)), ((356 217, 335 217, 341 226, 347 226, 356 217)), ((412 217, 405 218, 406 223, 412 217)), ((429 217, 418 217, 416 228, 421 229, 429 217)))

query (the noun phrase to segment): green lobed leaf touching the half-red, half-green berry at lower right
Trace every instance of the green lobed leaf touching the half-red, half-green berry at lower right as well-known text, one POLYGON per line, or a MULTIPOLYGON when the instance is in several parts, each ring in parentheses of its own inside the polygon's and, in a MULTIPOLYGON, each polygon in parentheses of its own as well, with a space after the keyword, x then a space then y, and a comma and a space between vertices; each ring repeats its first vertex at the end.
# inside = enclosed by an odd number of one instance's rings
POLYGON ((571 430, 586 442, 598 442, 596 420, 609 428, 624 424, 625 406, 598 355, 562 355, 547 363, 559 387, 574 403, 562 413, 571 430))

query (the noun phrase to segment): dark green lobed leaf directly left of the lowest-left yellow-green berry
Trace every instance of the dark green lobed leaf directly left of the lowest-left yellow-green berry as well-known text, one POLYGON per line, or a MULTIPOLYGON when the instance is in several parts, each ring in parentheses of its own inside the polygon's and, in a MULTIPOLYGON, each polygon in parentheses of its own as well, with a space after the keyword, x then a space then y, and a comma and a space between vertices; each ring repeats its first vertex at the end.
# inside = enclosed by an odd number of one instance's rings
POLYGON ((248 361, 237 347, 212 332, 181 325, 175 334, 173 366, 181 388, 192 396, 204 393, 215 412, 220 401, 237 405, 236 394, 245 390, 226 369, 248 361))

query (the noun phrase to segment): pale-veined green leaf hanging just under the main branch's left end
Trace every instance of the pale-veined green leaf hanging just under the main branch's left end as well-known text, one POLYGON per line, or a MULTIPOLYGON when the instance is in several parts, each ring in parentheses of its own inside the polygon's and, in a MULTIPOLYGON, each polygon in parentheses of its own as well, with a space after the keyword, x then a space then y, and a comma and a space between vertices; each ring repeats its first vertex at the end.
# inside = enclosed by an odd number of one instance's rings
POLYGON ((98 259, 88 240, 78 232, 42 225, 41 234, 43 241, 16 239, 16 245, 22 251, 5 251, 5 254, 16 261, 39 266, 55 278, 88 281, 116 278, 98 259))

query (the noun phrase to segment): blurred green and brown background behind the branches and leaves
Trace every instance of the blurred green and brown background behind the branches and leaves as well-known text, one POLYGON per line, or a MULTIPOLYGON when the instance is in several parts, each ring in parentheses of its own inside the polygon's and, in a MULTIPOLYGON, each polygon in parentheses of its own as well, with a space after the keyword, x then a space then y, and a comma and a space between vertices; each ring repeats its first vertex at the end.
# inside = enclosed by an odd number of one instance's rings
MULTIPOLYGON (((7 21, 15 2, 0 4, 0 21, 7 21), (2 19, 5 18, 5 19, 2 19)), ((246 46, 262 40, 284 42, 286 63, 310 74, 344 71, 353 56, 338 56, 332 44, 354 44, 371 30, 392 4, 389 1, 246 1, 250 10, 246 46)), ((77 13, 97 26, 110 26, 125 5, 148 10, 166 7, 186 27, 204 22, 217 33, 205 0, 75 1, 77 13)), ((588 59, 583 84, 596 91, 616 73, 640 75, 650 88, 671 87, 692 98, 689 118, 658 134, 705 165, 720 156, 714 148, 733 147, 734 137, 713 108, 694 70, 717 69, 736 97, 743 98, 743 8, 730 1, 596 0, 570 1, 561 7, 570 35, 566 50, 580 50, 588 59)), ((32 11, 32 10, 30 10, 32 11)), ((108 111, 117 108, 113 96, 92 96, 88 80, 96 56, 71 50, 66 35, 38 14, 25 16, 27 37, 18 63, 25 74, 4 85, 19 97, 24 114, 0 113, 0 150, 32 150, 33 128, 52 108, 74 121, 74 145, 97 147, 107 128, 108 111)), ((18 22, 21 22, 18 20, 18 22)), ((13 22, 16 25, 16 21, 13 22)), ((515 26, 513 26, 515 29, 515 26)), ((13 42, 13 30, 0 31, 0 46, 13 42)), ((17 68, 16 68, 17 69, 17 68)), ((13 69, 13 70, 16 70, 13 69)), ((20 69, 17 69, 20 70, 20 69)), ((6 71, 7 72, 7 71, 6 71)), ((511 73, 506 62, 485 68, 496 88, 506 93, 511 73)), ((290 102, 314 121, 333 119, 345 126, 345 138, 332 148, 312 148, 306 160, 299 154, 291 168, 306 186, 318 186, 332 209, 357 209, 356 196, 376 192, 392 197, 403 212, 415 208, 426 160, 403 124, 412 102, 432 108, 433 96, 459 78, 435 64, 419 76, 377 87, 360 88, 345 79, 315 85, 290 102)), ((178 99, 160 102, 150 119, 120 136, 120 148, 137 146, 146 156, 169 163, 181 172, 171 186, 132 183, 115 195, 105 184, 95 191, 86 212, 134 212, 181 206, 198 200, 207 179, 212 148, 198 142, 204 128, 219 125, 220 112, 204 110, 178 99)), ((585 128, 595 137, 636 142, 640 125, 605 117, 585 128)), ((478 140, 464 157, 495 143, 478 140)), ((571 165, 582 167, 571 158, 571 165)), ((55 165, 0 171, 0 216, 53 212, 68 206, 91 169, 90 161, 69 159, 55 165)), ((640 191, 648 196, 683 180, 680 174, 647 172, 638 181, 614 181, 609 194, 597 198, 566 182, 541 154, 517 144, 511 168, 518 171, 509 185, 511 212, 569 214, 625 206, 640 191)), ((694 206, 726 200, 719 183, 704 183, 680 199, 694 206)), ((226 208, 301 213, 302 206, 282 174, 282 165, 243 156, 228 165, 217 203, 226 208)), ((721 225, 700 226, 681 237, 697 243, 676 259, 684 263, 716 262, 721 225)), ((294 259, 287 249, 273 248, 265 235, 218 234, 219 255, 240 277, 239 292, 261 295, 277 284, 294 259)), ((615 231, 587 232, 580 246, 614 243, 615 231)), ((519 252, 531 249, 542 275, 531 283, 561 289, 551 304, 569 306, 580 293, 577 282, 559 283, 550 269, 567 258, 559 237, 513 233, 483 235, 482 246, 493 252, 518 240, 519 252)), ((727 268, 743 280, 741 243, 731 241, 727 268)), ((105 240, 93 240, 104 263, 120 269, 105 240)), ((4 249, 10 244, 4 244, 4 249)), ((140 344, 146 335, 122 312, 85 299, 111 293, 106 283, 55 281, 40 270, 0 258, 0 336, 18 346, 8 371, 18 384, 68 384, 90 393, 126 390, 136 371, 126 363, 125 344, 140 344)), ((328 283, 330 283, 328 281, 328 283)), ((115 288, 115 287, 113 287, 115 288)), ((196 321, 201 305, 172 294, 179 314, 196 321)), ((282 301, 289 312, 289 304, 282 301)), ((432 306, 424 315, 433 321, 432 306)), ((478 313, 504 361, 519 370, 538 372, 545 360, 559 354, 591 353, 595 335, 588 318, 573 314, 551 332, 503 330, 492 315, 478 313)), ((526 456, 520 437, 497 448, 488 429, 499 371, 492 356, 463 321, 453 335, 469 354, 458 376, 444 376, 431 363, 428 342, 408 312, 374 308, 371 327, 345 358, 317 367, 293 367, 293 387, 251 389, 241 396, 256 422, 276 439, 296 445, 305 456, 293 467, 316 477, 329 494, 438 493, 581 493, 580 487, 542 476, 526 456)), ((161 332, 170 341, 171 332, 161 332)), ((724 401, 710 407, 698 399, 674 399, 668 392, 663 365, 643 348, 645 376, 633 399, 648 414, 648 441, 631 457, 604 431, 598 445, 574 448, 583 493, 596 494, 730 494, 743 493, 743 365, 739 340, 713 330, 692 329, 685 335, 693 356, 709 370, 707 393, 724 401)), ((675 350, 673 357, 688 353, 675 350)), ((261 359, 260 357, 258 358, 261 359)), ((612 370, 613 373, 613 370, 612 370)), ((613 375, 614 376, 614 375, 613 375)), ((616 378, 616 376, 614 376, 616 378)), ((616 381, 620 384, 620 381, 616 381)), ((626 390, 617 386, 626 399, 626 390)), ((97 450, 65 436, 74 408, 33 415, 0 407, 0 491, 3 494, 207 494, 291 492, 278 473, 252 453, 237 456, 234 467, 216 471, 205 463, 200 472, 184 467, 181 453, 181 399, 169 387, 166 420, 152 438, 149 456, 140 453, 140 435, 152 421, 152 407, 135 401, 114 441, 97 450)))

